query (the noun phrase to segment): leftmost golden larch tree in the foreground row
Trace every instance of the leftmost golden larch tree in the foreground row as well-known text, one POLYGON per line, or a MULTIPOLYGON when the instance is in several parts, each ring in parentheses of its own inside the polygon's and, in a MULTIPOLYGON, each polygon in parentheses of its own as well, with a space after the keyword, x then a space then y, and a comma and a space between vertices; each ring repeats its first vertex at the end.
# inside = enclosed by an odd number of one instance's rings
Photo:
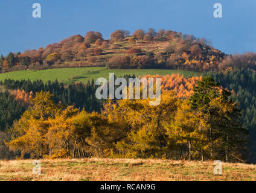
POLYGON ((30 153, 31 157, 41 157, 48 153, 44 136, 48 131, 45 120, 58 112, 50 92, 36 93, 31 107, 24 112, 19 121, 14 122, 10 130, 12 140, 7 142, 11 150, 21 150, 22 157, 30 153))

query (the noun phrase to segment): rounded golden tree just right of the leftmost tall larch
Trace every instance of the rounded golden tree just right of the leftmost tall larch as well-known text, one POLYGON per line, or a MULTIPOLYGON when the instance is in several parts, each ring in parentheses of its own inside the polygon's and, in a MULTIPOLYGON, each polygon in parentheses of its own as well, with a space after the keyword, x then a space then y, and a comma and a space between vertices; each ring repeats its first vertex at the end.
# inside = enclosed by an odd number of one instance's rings
POLYGON ((89 147, 86 139, 91 136, 92 129, 88 113, 69 106, 46 124, 45 141, 50 157, 85 157, 86 147, 89 147))

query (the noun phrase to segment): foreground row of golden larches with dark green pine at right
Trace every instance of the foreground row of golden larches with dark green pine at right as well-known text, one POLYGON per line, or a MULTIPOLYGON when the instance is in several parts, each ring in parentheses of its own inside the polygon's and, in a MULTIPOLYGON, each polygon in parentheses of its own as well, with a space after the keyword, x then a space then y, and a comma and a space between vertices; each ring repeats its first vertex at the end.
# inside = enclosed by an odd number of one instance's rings
POLYGON ((247 130, 238 104, 210 77, 187 100, 164 92, 159 106, 148 100, 108 101, 101 112, 56 104, 37 92, 8 131, 6 145, 30 157, 126 157, 246 160, 247 130))

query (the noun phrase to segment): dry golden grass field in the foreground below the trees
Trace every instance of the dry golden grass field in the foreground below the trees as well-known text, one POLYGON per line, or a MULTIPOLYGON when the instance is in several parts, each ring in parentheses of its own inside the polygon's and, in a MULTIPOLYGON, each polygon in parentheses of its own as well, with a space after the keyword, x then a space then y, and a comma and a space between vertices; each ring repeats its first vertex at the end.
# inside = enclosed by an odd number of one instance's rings
POLYGON ((41 174, 34 160, 1 160, 0 180, 256 180, 256 165, 223 163, 214 175, 213 162, 142 159, 43 159, 41 174))

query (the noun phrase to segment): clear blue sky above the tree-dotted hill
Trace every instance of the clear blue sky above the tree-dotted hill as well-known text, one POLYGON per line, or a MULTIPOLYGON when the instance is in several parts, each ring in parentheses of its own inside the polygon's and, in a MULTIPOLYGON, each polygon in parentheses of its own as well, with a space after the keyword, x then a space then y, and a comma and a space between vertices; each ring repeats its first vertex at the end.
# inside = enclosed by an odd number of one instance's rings
POLYGON ((11 0, 0 1, 0 54, 24 52, 74 34, 100 31, 109 39, 117 29, 170 29, 213 42, 226 54, 256 52, 255 0, 11 0), (213 17, 221 3, 223 17, 213 17), (33 18, 40 3, 42 18, 33 18))

